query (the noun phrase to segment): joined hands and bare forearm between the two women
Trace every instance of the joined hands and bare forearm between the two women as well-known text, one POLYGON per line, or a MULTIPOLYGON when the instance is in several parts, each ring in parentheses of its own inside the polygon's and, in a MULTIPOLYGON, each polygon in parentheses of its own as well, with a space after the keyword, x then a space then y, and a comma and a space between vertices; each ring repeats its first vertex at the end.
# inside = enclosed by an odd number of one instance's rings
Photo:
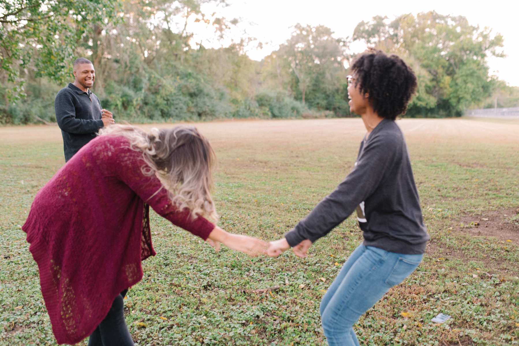
MULTIPOLYGON (((207 242, 209 245, 214 247, 216 252, 220 250, 220 243, 222 243, 228 248, 243 252, 252 257, 261 254, 266 254, 270 257, 277 257, 290 247, 285 238, 267 243, 261 239, 243 236, 242 234, 228 233, 218 226, 216 226, 209 234, 207 242)), ((292 251, 297 257, 305 258, 308 256, 306 252, 310 246, 312 246, 311 241, 303 240, 301 243, 294 246, 292 251)))

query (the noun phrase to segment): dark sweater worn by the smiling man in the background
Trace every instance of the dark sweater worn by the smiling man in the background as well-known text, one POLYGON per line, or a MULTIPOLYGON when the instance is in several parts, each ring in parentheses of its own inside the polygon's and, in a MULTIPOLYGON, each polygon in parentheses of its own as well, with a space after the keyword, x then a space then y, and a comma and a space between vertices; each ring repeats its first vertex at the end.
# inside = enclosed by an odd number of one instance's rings
POLYGON ((65 162, 95 138, 103 127, 101 103, 90 90, 83 91, 69 83, 54 100, 56 120, 63 136, 65 162))

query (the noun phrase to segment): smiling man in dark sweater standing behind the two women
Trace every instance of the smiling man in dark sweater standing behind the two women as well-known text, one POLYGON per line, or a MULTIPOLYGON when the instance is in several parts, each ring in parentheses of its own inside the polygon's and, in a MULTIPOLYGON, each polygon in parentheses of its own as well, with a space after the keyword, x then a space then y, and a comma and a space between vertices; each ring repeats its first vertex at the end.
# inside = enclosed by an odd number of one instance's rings
POLYGON ((112 113, 102 109, 90 88, 94 85, 95 70, 90 60, 74 61, 74 83, 61 89, 54 100, 56 120, 63 135, 65 162, 90 142, 102 127, 115 123, 112 113))

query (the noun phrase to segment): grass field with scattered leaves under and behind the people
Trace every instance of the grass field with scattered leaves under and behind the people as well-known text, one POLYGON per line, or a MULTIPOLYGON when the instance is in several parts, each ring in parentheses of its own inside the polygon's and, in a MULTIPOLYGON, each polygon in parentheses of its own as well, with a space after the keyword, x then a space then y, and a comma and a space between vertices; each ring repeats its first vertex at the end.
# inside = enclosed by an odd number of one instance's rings
MULTIPOLYGON (((519 121, 398 124, 431 241, 415 273, 354 326, 361 344, 518 344, 519 121), (430 322, 440 312, 452 318, 430 322)), ((360 119, 196 126, 218 156, 219 224, 264 240, 280 238, 342 181, 365 133, 360 119)), ((20 228, 63 164, 58 128, 0 128, 0 345, 55 344, 20 228)), ((158 254, 143 262, 144 278, 125 300, 139 346, 325 345, 319 301, 362 238, 349 218, 306 259, 249 258, 226 248, 215 254, 155 214, 152 232, 158 254)))

